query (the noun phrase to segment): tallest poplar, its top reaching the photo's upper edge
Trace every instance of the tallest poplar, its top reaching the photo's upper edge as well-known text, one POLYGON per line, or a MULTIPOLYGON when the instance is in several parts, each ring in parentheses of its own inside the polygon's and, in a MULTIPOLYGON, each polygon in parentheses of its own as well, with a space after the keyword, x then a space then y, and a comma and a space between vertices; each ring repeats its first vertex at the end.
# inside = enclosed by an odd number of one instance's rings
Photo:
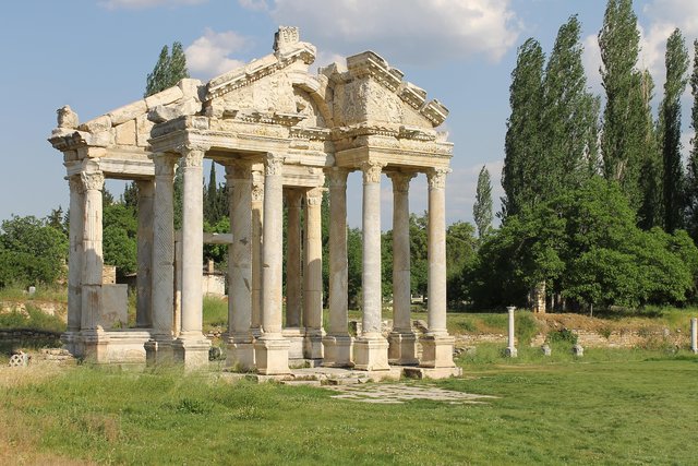
POLYGON ((631 0, 609 0, 599 32, 601 79, 606 93, 601 133, 603 174, 621 183, 634 210, 641 204, 645 112, 636 70, 640 34, 631 0))

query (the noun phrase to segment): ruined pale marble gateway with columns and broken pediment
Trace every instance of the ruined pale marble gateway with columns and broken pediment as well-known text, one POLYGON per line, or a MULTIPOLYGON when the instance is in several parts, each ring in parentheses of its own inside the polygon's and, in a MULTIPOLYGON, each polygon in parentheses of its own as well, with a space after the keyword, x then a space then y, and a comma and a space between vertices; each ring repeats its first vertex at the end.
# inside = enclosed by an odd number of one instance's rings
MULTIPOLYGON (((384 371, 419 365, 450 374, 446 331, 445 179, 453 144, 434 128, 447 116, 374 52, 314 75, 315 47, 281 27, 274 52, 202 83, 177 86, 80 123, 63 107, 50 142, 70 186, 69 318, 72 354, 99 362, 207 362, 202 334, 202 162, 226 168, 230 199, 228 365, 261 374, 289 371, 291 342, 327 367, 384 371), (173 328, 172 182, 183 172, 181 323, 173 328), (363 176, 362 332, 348 333, 347 176, 363 176), (394 192, 394 327, 381 333, 382 174, 394 192), (429 180, 429 332, 410 325, 410 179, 429 180), (101 190, 105 178, 139 186, 137 328, 98 324, 101 190), (329 324, 323 328, 321 199, 330 199, 329 324), (288 207, 287 315, 282 322, 282 206, 288 207), (300 232, 304 210, 305 235, 300 232), (301 253, 302 251, 302 253, 301 253), (302 297, 302 298, 301 298, 302 297), (284 325, 286 324, 286 325, 284 325)), ((429 372, 428 372, 429 373, 429 372)))

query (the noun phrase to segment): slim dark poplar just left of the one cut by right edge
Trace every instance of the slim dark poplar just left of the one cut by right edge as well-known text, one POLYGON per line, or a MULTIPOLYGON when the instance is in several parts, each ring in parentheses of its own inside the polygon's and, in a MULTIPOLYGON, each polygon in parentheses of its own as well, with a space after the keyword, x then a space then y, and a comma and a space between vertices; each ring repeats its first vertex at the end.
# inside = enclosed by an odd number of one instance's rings
POLYGON ((683 226, 684 170, 681 160, 681 96, 686 88, 688 50, 678 28, 666 40, 666 82, 664 83, 663 116, 663 206, 664 229, 674 232, 683 226))

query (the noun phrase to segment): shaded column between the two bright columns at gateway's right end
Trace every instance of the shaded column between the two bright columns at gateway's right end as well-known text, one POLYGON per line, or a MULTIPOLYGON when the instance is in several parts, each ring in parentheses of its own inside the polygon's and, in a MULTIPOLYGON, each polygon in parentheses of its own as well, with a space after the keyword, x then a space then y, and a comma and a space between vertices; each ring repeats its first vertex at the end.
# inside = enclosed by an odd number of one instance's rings
POLYGON ((410 207, 409 187, 414 174, 393 171, 393 332, 388 335, 388 360, 417 365, 417 336, 410 319, 410 207))

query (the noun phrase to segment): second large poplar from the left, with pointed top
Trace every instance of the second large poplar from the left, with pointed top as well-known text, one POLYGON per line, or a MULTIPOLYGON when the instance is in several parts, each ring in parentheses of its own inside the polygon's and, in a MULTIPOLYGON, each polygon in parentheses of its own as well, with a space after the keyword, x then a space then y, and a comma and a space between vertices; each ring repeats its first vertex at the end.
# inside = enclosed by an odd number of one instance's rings
POLYGON ((600 104, 587 88, 580 31, 576 15, 561 26, 543 80, 541 155, 552 195, 579 187, 598 167, 600 104))

